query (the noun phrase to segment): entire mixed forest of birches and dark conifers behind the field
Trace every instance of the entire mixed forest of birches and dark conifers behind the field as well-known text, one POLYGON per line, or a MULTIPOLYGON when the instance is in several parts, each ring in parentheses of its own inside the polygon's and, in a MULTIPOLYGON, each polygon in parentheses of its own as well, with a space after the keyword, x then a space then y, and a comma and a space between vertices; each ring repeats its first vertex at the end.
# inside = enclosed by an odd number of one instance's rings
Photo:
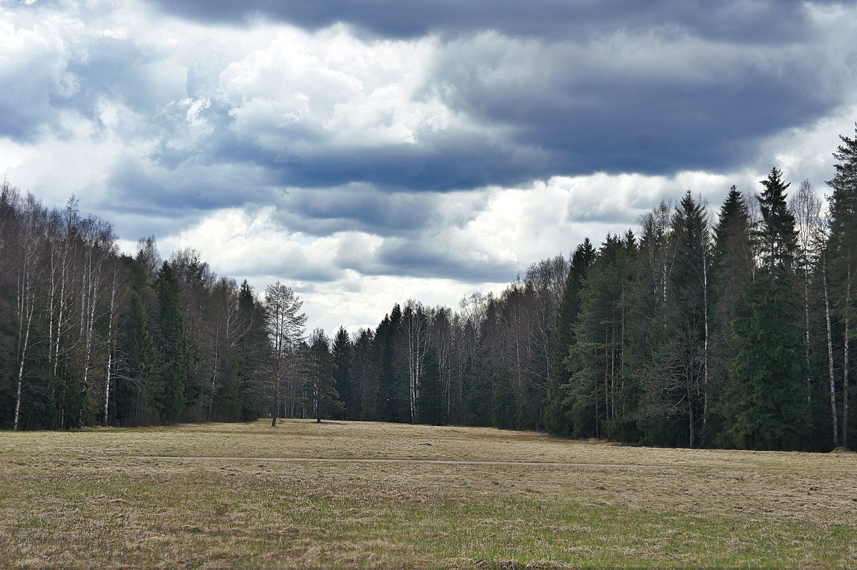
POLYGON ((690 191, 458 307, 307 335, 297 294, 123 255, 74 198, 0 193, 0 427, 270 418, 491 425, 652 446, 854 448, 857 137, 826 200, 773 168, 690 191))

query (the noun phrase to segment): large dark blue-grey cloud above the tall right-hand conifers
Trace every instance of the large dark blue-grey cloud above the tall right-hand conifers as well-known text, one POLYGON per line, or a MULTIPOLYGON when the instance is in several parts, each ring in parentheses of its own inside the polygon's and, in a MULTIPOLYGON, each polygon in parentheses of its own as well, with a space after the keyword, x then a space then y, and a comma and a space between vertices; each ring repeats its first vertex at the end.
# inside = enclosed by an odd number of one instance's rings
MULTIPOLYGON (((650 41, 655 54, 676 59, 653 56, 633 68, 573 46, 527 50, 488 38, 482 58, 466 57, 472 48, 464 43, 447 48, 437 70, 439 92, 456 110, 506 125, 510 144, 540 149, 549 164, 542 176, 730 169, 756 159, 761 138, 812 123, 842 101, 842 86, 829 77, 832 66, 812 46, 682 54, 681 41, 626 40, 650 41), (524 71, 532 77, 523 82, 500 64, 492 67, 492 60, 508 58, 538 71, 524 71)), ((687 44, 694 47, 705 49, 687 44)))

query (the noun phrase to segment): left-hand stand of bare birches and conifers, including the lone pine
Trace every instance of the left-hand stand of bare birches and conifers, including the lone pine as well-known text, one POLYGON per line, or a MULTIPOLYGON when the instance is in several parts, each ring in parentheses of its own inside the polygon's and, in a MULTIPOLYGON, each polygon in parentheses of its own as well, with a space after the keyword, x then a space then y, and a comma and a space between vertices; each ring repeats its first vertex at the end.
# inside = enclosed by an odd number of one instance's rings
POLYGON ((214 275, 194 250, 162 260, 152 237, 120 255, 75 199, 49 209, 0 187, 0 427, 329 415, 329 341, 304 340, 300 307, 279 282, 262 300, 214 275))

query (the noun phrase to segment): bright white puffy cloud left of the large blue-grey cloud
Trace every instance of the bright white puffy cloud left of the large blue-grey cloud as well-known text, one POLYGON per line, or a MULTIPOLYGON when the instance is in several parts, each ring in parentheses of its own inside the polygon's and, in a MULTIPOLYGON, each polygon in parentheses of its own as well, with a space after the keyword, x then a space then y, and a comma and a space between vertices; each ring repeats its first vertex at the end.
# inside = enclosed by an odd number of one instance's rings
POLYGON ((219 97, 232 128, 273 148, 414 143, 452 113, 426 90, 433 38, 362 41, 348 28, 281 27, 269 45, 231 62, 219 97))

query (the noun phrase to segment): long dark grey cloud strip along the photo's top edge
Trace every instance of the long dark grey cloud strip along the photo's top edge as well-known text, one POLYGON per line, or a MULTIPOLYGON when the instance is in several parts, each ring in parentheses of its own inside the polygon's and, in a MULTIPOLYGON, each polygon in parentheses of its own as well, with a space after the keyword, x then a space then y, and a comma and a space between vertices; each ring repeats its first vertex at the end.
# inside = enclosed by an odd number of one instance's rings
POLYGON ((343 22, 393 38, 427 33, 458 34, 482 30, 542 38, 609 33, 623 27, 675 25, 704 38, 750 43, 787 43, 805 36, 804 3, 793 0, 154 0, 171 14, 201 21, 241 23, 265 17, 318 29, 343 22), (714 8, 714 9, 712 9, 714 8))

